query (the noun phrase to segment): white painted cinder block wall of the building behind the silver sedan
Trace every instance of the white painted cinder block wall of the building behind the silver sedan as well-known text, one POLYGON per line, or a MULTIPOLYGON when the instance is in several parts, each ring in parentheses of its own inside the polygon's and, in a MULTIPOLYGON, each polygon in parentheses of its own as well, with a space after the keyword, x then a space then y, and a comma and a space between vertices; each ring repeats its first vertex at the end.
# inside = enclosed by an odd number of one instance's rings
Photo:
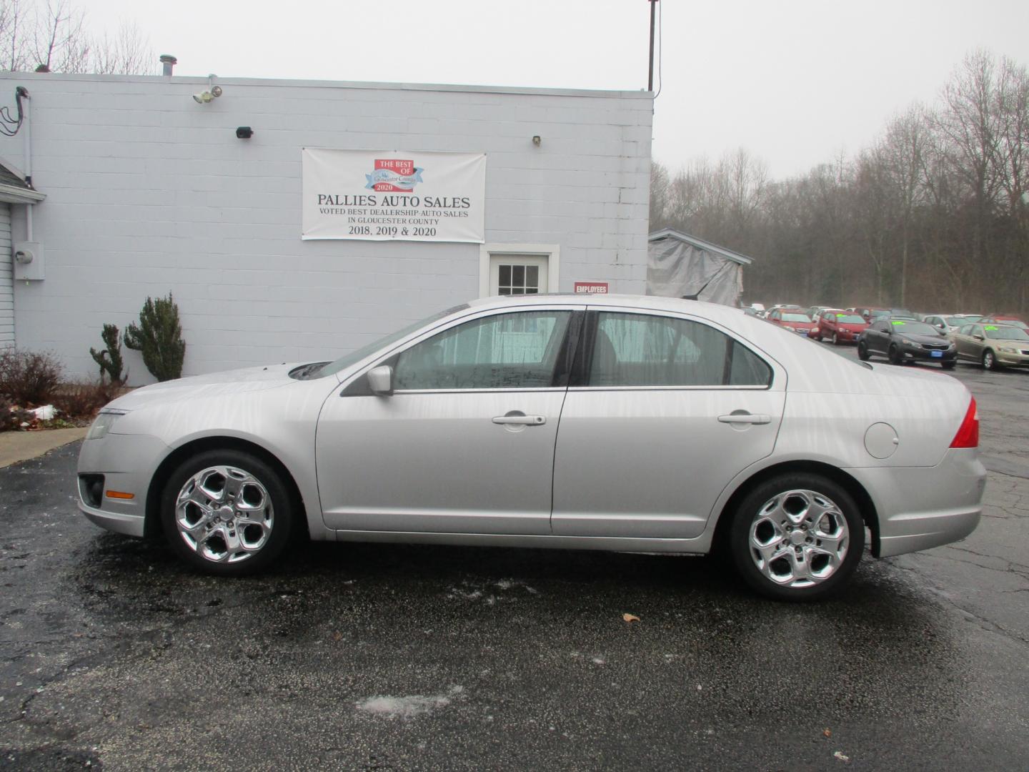
MULTIPOLYGON (((31 95, 45 279, 16 282, 21 348, 95 377, 104 322, 174 292, 185 375, 333 358, 478 295, 480 245, 301 241, 300 148, 487 153, 486 241, 560 247, 559 291, 645 289, 652 99, 571 92, 3 73, 31 95), (254 136, 236 137, 249 126, 254 136), (541 138, 534 146, 533 135, 541 138)), ((24 131, 24 130, 23 130, 24 131)), ((0 155, 26 168, 24 134, 0 155)), ((15 241, 25 206, 13 205, 15 241)), ((551 288, 552 291, 555 289, 551 288)), ((152 381, 127 351, 134 384, 152 381)))

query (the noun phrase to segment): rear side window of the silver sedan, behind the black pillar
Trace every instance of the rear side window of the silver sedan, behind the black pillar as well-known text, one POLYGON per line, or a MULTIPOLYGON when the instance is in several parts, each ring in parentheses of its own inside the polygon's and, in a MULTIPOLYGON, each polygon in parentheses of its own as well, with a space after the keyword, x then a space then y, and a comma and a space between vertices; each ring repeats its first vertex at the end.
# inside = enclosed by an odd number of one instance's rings
POLYGON ((772 369, 723 332, 700 322, 600 313, 590 386, 767 386, 772 369))

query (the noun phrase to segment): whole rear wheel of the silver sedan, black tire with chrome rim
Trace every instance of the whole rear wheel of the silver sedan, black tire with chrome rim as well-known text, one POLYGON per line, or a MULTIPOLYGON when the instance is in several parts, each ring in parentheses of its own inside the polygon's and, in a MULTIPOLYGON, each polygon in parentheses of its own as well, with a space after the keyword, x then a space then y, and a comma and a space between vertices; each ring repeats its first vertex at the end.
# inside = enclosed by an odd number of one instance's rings
POLYGON ((751 589, 776 600, 819 600, 838 593, 864 552, 864 522, 853 497, 820 475, 791 472, 766 480, 744 496, 732 517, 729 549, 737 570, 751 589), (829 537, 830 532, 836 535, 829 537), (818 539, 819 534, 825 539, 818 539), (760 541, 781 552, 765 559, 760 541), (826 552, 829 541, 839 549, 826 552), (813 574, 794 575, 802 557, 813 574))

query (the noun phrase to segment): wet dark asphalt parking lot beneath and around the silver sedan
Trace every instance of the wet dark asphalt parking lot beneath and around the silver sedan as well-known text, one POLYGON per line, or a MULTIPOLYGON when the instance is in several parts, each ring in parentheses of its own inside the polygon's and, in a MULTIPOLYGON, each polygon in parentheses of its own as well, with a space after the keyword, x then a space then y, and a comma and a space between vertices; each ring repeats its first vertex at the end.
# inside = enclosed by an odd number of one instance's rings
POLYGON ((0 769, 1024 770, 1029 373, 954 375, 979 529, 810 605, 714 559, 485 548, 217 581, 82 518, 78 444, 0 469, 0 769))

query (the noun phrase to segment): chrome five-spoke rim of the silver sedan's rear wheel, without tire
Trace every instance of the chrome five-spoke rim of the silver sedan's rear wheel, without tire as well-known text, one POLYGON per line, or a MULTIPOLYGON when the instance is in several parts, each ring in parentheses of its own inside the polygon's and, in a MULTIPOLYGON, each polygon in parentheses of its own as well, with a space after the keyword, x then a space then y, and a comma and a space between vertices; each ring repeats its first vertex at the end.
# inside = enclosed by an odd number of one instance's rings
POLYGON ((748 546, 757 570, 780 587, 812 587, 847 556, 843 512, 815 491, 790 490, 769 499, 750 524, 748 546))

